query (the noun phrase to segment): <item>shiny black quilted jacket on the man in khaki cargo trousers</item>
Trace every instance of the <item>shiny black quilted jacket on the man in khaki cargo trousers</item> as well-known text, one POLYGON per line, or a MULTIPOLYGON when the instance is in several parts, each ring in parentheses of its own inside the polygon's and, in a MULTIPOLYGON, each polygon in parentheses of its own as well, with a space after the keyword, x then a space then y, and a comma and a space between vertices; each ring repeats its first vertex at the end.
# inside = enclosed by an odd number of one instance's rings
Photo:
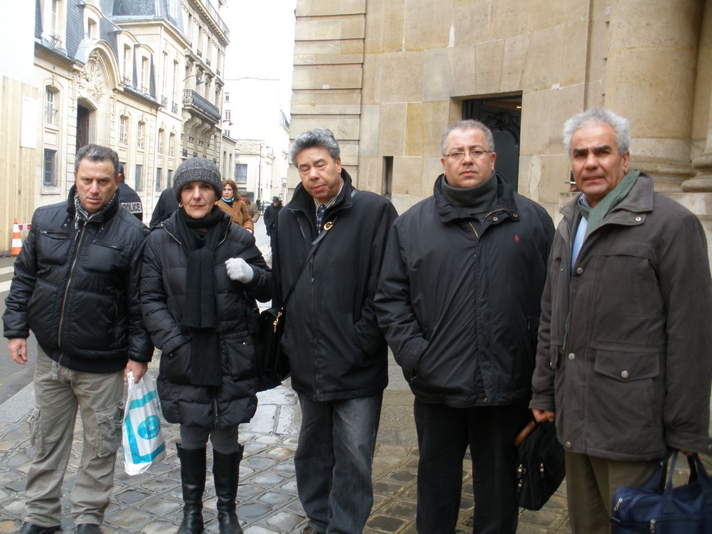
POLYGON ((34 333, 46 354, 69 369, 116 372, 130 358, 149 362, 139 277, 148 229, 119 194, 76 230, 74 195, 36 209, 15 262, 3 315, 5 337, 34 333))

